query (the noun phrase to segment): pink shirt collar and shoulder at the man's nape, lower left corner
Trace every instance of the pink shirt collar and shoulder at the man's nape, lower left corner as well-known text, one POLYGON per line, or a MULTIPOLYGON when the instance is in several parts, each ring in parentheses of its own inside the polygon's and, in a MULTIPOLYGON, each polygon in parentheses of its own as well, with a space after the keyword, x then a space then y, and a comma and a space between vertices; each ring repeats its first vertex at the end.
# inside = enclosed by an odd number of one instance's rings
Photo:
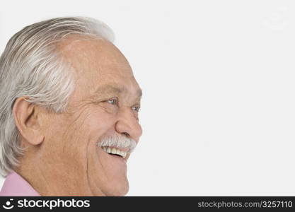
POLYGON ((23 177, 16 172, 7 175, 0 196, 40 196, 23 177))

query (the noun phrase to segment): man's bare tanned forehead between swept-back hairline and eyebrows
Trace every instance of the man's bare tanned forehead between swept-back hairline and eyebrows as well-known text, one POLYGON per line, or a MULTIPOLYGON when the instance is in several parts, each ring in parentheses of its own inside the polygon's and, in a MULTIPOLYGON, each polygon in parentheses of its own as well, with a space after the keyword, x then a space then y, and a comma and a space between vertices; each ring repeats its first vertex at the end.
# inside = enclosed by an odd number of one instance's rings
POLYGON ((131 93, 140 90, 127 59, 112 43, 73 37, 59 47, 74 71, 79 93, 91 95, 108 84, 131 93))

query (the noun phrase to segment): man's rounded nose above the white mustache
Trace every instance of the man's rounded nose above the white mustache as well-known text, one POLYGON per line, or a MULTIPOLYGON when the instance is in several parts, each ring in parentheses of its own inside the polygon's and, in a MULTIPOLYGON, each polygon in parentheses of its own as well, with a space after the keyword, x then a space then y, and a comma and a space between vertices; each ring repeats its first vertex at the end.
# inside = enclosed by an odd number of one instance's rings
POLYGON ((115 130, 117 131, 117 133, 130 137, 137 142, 139 141, 139 138, 142 134, 142 129, 139 121, 134 115, 134 112, 129 107, 124 108, 124 110, 122 109, 118 113, 115 130))

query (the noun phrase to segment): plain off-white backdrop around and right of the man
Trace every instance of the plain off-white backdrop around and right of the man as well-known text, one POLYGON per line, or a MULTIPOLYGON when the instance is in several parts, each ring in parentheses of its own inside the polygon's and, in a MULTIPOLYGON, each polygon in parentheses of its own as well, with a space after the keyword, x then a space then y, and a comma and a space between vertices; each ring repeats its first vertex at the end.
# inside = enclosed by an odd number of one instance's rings
POLYGON ((1 52, 58 16, 110 25, 144 90, 127 195, 295 195, 294 1, 1 1, 1 52))

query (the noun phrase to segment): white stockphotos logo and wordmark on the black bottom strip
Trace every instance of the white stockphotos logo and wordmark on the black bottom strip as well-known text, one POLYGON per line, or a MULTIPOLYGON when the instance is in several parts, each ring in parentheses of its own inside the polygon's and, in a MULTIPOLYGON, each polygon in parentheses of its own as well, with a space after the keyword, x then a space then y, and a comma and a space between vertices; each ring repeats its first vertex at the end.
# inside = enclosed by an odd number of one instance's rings
POLYGON ((53 208, 89 208, 90 200, 10 198, 5 201, 2 207, 6 210, 12 208, 49 208, 50 210, 53 208))

